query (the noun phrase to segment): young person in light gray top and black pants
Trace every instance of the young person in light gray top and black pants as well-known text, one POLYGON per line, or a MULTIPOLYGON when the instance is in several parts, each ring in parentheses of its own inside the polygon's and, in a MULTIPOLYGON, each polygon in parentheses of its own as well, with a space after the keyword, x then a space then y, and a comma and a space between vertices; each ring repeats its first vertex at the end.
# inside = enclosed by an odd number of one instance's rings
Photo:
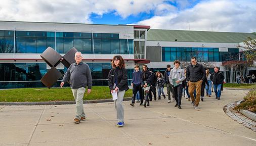
POLYGON ((174 88, 175 107, 181 109, 182 81, 185 80, 184 70, 180 68, 180 61, 174 62, 174 68, 170 70, 169 82, 174 88))

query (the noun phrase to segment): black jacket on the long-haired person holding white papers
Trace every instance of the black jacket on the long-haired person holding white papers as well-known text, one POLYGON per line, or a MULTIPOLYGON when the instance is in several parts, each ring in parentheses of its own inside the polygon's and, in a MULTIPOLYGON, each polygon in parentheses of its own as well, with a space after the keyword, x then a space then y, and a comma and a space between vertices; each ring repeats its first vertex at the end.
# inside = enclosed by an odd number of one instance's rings
POLYGON ((117 87, 119 91, 128 90, 128 77, 125 68, 119 68, 118 73, 115 73, 116 69, 111 69, 108 73, 108 87, 110 90, 114 90, 115 76, 117 75, 117 87))

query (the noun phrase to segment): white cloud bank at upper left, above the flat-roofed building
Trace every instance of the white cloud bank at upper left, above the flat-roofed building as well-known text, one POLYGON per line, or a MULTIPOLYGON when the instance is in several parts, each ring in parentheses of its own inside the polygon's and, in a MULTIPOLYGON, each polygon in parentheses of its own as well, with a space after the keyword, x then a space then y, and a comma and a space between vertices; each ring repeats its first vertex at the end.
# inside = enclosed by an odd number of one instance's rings
MULTIPOLYGON (((139 13, 150 13, 157 6, 164 5, 162 11, 169 9, 164 0, 2 0, 0 20, 44 21, 44 22, 82 22, 93 23, 92 13, 99 16, 115 12, 122 18, 139 13)), ((173 9, 173 8, 172 8, 173 9)), ((160 13, 160 10, 157 11, 160 13)))

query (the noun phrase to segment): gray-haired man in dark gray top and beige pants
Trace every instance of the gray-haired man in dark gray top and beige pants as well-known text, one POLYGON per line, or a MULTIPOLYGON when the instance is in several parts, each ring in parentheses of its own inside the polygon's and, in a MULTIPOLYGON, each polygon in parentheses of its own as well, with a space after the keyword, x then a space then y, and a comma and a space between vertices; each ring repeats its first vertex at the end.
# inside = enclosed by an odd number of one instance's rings
POLYGON ((92 90, 92 75, 88 64, 82 62, 82 54, 80 52, 75 53, 75 63, 71 64, 64 75, 60 86, 62 87, 65 82, 70 82, 70 87, 75 99, 76 104, 76 117, 75 123, 86 119, 86 114, 83 110, 83 94, 86 91, 90 93, 92 90))

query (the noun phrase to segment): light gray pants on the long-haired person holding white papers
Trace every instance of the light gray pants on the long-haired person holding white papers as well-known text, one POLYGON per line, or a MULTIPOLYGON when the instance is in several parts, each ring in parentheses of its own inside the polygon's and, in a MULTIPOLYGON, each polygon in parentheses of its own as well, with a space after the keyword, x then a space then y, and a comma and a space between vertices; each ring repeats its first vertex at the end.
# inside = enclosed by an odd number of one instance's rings
POLYGON ((124 110, 122 106, 122 101, 123 101, 124 93, 125 93, 125 90, 118 92, 117 100, 114 100, 117 122, 123 122, 124 110))

